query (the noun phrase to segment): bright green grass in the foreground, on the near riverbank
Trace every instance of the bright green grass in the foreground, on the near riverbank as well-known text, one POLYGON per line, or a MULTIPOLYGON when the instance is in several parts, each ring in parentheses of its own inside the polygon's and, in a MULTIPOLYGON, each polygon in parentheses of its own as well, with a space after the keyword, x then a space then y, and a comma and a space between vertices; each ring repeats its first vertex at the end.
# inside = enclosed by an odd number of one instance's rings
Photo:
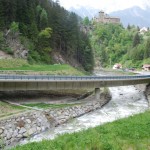
POLYGON ((149 150, 150 111, 13 150, 149 150))

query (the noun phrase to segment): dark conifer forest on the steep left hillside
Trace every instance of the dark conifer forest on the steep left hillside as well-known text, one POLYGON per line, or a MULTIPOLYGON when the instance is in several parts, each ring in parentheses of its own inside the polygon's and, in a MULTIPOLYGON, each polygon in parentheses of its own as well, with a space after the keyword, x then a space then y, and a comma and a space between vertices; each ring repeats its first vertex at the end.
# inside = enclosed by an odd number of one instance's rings
POLYGON ((82 19, 52 0, 0 0, 0 49, 9 53, 5 34, 18 32, 29 49, 30 63, 53 64, 59 52, 69 62, 75 59, 86 71, 94 66, 89 37, 81 30, 82 19))

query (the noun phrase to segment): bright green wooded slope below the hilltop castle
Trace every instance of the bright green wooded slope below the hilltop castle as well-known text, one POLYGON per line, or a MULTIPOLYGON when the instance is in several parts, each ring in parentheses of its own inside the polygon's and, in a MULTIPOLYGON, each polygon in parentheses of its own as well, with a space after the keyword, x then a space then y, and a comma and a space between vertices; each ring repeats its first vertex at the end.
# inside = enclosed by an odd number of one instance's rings
POLYGON ((150 63, 150 31, 140 34, 135 26, 95 23, 90 36, 96 60, 103 67, 122 63, 124 68, 141 68, 150 63))

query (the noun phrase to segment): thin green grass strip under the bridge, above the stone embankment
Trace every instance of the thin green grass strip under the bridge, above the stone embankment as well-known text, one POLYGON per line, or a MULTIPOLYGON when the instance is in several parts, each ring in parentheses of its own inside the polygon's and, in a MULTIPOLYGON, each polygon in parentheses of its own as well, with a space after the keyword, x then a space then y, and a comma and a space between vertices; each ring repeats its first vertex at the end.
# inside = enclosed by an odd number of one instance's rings
POLYGON ((36 107, 36 108, 64 108, 69 106, 74 106, 75 104, 45 104, 45 103, 32 103, 32 104, 23 104, 24 106, 36 107))

